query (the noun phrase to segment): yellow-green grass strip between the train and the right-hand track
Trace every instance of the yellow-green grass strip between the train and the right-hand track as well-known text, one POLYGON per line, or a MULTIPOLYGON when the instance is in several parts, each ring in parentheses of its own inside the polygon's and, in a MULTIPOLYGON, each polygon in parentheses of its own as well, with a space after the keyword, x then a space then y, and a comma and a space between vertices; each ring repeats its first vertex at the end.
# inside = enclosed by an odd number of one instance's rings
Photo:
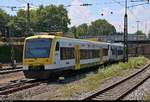
POLYGON ((106 79, 125 75, 134 68, 140 68, 137 66, 142 66, 145 64, 146 58, 132 57, 129 58, 129 61, 126 63, 120 62, 118 64, 113 64, 103 69, 99 69, 97 74, 88 74, 83 79, 62 85, 57 90, 59 97, 54 97, 54 99, 65 99, 66 97, 70 98, 76 94, 92 91, 106 79))

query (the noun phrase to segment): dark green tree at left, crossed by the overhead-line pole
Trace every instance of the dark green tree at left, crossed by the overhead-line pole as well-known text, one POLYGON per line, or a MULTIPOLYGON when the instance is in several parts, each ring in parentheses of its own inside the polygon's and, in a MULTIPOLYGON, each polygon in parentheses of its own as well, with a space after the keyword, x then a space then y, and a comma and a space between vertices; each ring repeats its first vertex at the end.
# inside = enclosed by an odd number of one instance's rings
MULTIPOLYGON (((33 30, 35 26, 35 10, 30 10, 30 31, 33 30), (34 16, 33 16, 34 15, 34 16)), ((13 36, 26 36, 28 27, 27 27, 27 11, 20 9, 17 12, 16 16, 12 16, 9 23, 8 23, 9 29, 11 30, 11 33, 13 33, 13 36)))

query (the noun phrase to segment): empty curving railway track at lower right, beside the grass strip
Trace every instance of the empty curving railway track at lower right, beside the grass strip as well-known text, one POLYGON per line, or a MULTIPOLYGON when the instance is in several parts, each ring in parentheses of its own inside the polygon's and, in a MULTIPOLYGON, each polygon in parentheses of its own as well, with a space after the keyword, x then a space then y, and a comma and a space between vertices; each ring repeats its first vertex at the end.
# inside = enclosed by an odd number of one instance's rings
POLYGON ((149 68, 150 64, 107 88, 95 90, 92 94, 87 95, 81 100, 121 100, 149 79, 150 73, 147 73, 149 68))

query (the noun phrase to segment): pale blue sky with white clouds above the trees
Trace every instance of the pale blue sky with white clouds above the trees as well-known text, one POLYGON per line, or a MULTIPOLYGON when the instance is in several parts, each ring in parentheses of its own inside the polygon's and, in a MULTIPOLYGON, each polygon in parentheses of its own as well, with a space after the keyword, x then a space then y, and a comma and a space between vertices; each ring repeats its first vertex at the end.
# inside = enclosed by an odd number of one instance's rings
MULTIPOLYGON (((137 30, 142 30, 148 34, 150 31, 150 4, 134 6, 146 3, 146 0, 134 0, 140 2, 127 1, 128 33, 135 33, 137 30)), ((26 8, 27 3, 30 3, 32 8, 37 8, 41 4, 44 6, 63 4, 71 19, 69 27, 78 26, 83 23, 90 24, 97 19, 105 19, 115 26, 117 32, 123 32, 124 29, 125 0, 0 0, 0 8, 10 15, 15 15, 17 9, 12 11, 9 7, 26 8), (80 6, 85 3, 92 5, 80 6)))

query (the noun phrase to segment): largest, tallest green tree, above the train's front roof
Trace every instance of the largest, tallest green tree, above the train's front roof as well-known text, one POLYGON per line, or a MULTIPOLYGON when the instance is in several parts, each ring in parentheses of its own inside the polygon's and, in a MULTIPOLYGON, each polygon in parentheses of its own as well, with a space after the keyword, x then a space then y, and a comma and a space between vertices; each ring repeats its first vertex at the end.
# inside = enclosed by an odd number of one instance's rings
POLYGON ((58 7, 54 5, 40 6, 37 9, 36 17, 36 31, 68 31, 67 25, 70 24, 70 20, 63 5, 58 7))

